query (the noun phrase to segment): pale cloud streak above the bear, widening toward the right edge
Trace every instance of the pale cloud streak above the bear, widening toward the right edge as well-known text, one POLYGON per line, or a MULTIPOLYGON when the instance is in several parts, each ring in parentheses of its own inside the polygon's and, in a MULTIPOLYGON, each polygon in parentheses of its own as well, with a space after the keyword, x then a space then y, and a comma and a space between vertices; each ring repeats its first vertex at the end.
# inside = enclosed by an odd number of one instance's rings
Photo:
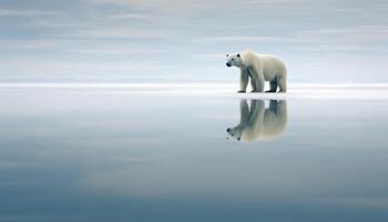
POLYGON ((305 52, 384 52, 381 44, 388 43, 388 27, 357 26, 346 28, 319 28, 296 30, 282 36, 211 36, 193 38, 194 43, 249 46, 267 43, 286 44, 292 50, 305 52))

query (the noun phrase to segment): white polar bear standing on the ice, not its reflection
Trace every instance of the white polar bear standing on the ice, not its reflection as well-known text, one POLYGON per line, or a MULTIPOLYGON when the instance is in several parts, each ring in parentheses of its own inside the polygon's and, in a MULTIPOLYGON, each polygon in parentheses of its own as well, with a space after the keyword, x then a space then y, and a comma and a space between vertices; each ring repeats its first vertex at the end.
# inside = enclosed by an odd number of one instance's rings
POLYGON ((241 70, 239 91, 246 92, 251 77, 252 92, 263 92, 265 81, 269 81, 270 89, 266 92, 287 91, 287 70, 284 62, 269 54, 256 54, 252 51, 226 54, 227 67, 237 67, 241 70))

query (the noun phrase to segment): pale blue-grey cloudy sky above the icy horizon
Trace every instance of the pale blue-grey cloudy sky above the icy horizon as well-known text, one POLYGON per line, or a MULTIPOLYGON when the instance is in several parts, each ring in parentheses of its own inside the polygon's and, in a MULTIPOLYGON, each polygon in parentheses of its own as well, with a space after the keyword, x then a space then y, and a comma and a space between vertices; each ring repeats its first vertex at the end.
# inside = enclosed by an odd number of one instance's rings
POLYGON ((388 1, 0 0, 0 82, 233 82, 225 54, 289 82, 388 82, 388 1))

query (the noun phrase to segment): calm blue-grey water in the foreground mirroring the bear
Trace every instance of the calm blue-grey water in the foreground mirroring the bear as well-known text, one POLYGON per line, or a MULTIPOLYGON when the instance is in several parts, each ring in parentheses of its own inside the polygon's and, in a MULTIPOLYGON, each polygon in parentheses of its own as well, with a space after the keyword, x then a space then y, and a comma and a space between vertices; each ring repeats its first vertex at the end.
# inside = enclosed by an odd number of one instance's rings
POLYGON ((387 100, 183 94, 0 90, 0 221, 388 220, 387 100))

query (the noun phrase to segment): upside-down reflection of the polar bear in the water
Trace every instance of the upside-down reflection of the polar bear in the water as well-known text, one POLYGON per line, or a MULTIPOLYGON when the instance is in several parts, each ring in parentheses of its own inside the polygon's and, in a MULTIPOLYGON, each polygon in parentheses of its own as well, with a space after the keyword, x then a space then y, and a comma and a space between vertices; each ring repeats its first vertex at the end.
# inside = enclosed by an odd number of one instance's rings
POLYGON ((255 140, 268 141, 280 137, 287 124, 287 102, 285 100, 269 100, 269 107, 265 108, 264 100, 244 99, 239 101, 239 123, 228 128, 227 139, 253 142, 255 140))

